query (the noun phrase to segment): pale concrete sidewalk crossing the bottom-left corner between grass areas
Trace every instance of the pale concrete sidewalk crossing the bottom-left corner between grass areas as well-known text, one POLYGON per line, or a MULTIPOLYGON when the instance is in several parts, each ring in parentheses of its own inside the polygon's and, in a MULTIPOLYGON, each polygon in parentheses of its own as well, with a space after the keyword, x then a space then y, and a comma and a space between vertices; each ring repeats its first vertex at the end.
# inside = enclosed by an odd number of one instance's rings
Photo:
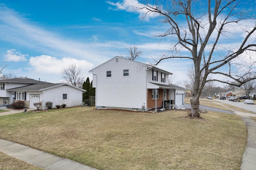
POLYGON ((0 139, 0 152, 46 170, 96 170, 90 166, 3 139, 0 139))

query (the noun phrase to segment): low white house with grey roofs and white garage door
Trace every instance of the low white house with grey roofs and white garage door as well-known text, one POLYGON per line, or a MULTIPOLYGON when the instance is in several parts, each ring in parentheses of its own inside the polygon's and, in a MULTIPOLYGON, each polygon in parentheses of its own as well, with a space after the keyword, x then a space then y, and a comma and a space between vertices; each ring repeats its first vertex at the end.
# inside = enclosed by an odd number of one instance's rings
POLYGON ((81 106, 82 93, 86 90, 66 83, 48 83, 25 77, 0 79, 0 104, 12 104, 24 101, 27 108, 33 108, 34 103, 42 103, 40 109, 46 109, 45 103, 50 101, 52 107, 66 104, 67 107, 81 106))

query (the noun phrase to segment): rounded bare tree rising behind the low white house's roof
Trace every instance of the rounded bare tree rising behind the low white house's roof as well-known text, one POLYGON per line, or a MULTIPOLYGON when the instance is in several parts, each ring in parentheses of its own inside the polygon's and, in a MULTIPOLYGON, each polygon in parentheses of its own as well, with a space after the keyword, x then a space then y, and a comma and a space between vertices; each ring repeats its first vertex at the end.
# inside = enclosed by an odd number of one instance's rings
POLYGON ((71 64, 67 68, 62 69, 62 76, 66 83, 82 88, 84 78, 82 76, 82 69, 76 67, 76 64, 71 64))

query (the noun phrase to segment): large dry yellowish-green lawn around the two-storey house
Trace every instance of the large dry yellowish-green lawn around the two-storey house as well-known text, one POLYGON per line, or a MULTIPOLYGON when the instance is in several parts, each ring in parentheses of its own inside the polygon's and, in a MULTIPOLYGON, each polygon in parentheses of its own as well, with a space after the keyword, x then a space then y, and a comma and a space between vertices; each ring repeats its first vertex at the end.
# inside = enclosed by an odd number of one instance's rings
POLYGON ((238 115, 92 108, 0 117, 0 138, 104 170, 240 169, 247 132, 238 115))

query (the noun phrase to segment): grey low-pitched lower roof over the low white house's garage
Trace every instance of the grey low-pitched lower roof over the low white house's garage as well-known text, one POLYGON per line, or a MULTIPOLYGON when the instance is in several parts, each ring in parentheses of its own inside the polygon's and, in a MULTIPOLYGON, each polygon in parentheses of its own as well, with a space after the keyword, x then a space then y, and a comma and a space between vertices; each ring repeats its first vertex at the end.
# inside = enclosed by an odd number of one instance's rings
POLYGON ((44 83, 44 84, 26 85, 26 86, 16 87, 16 88, 12 88, 12 89, 6 89, 6 91, 14 91, 14 90, 15 91, 43 91, 43 90, 59 87, 59 86, 62 86, 62 85, 67 85, 67 86, 79 89, 81 91, 86 91, 84 89, 69 85, 67 83, 48 83, 48 84, 44 83))

